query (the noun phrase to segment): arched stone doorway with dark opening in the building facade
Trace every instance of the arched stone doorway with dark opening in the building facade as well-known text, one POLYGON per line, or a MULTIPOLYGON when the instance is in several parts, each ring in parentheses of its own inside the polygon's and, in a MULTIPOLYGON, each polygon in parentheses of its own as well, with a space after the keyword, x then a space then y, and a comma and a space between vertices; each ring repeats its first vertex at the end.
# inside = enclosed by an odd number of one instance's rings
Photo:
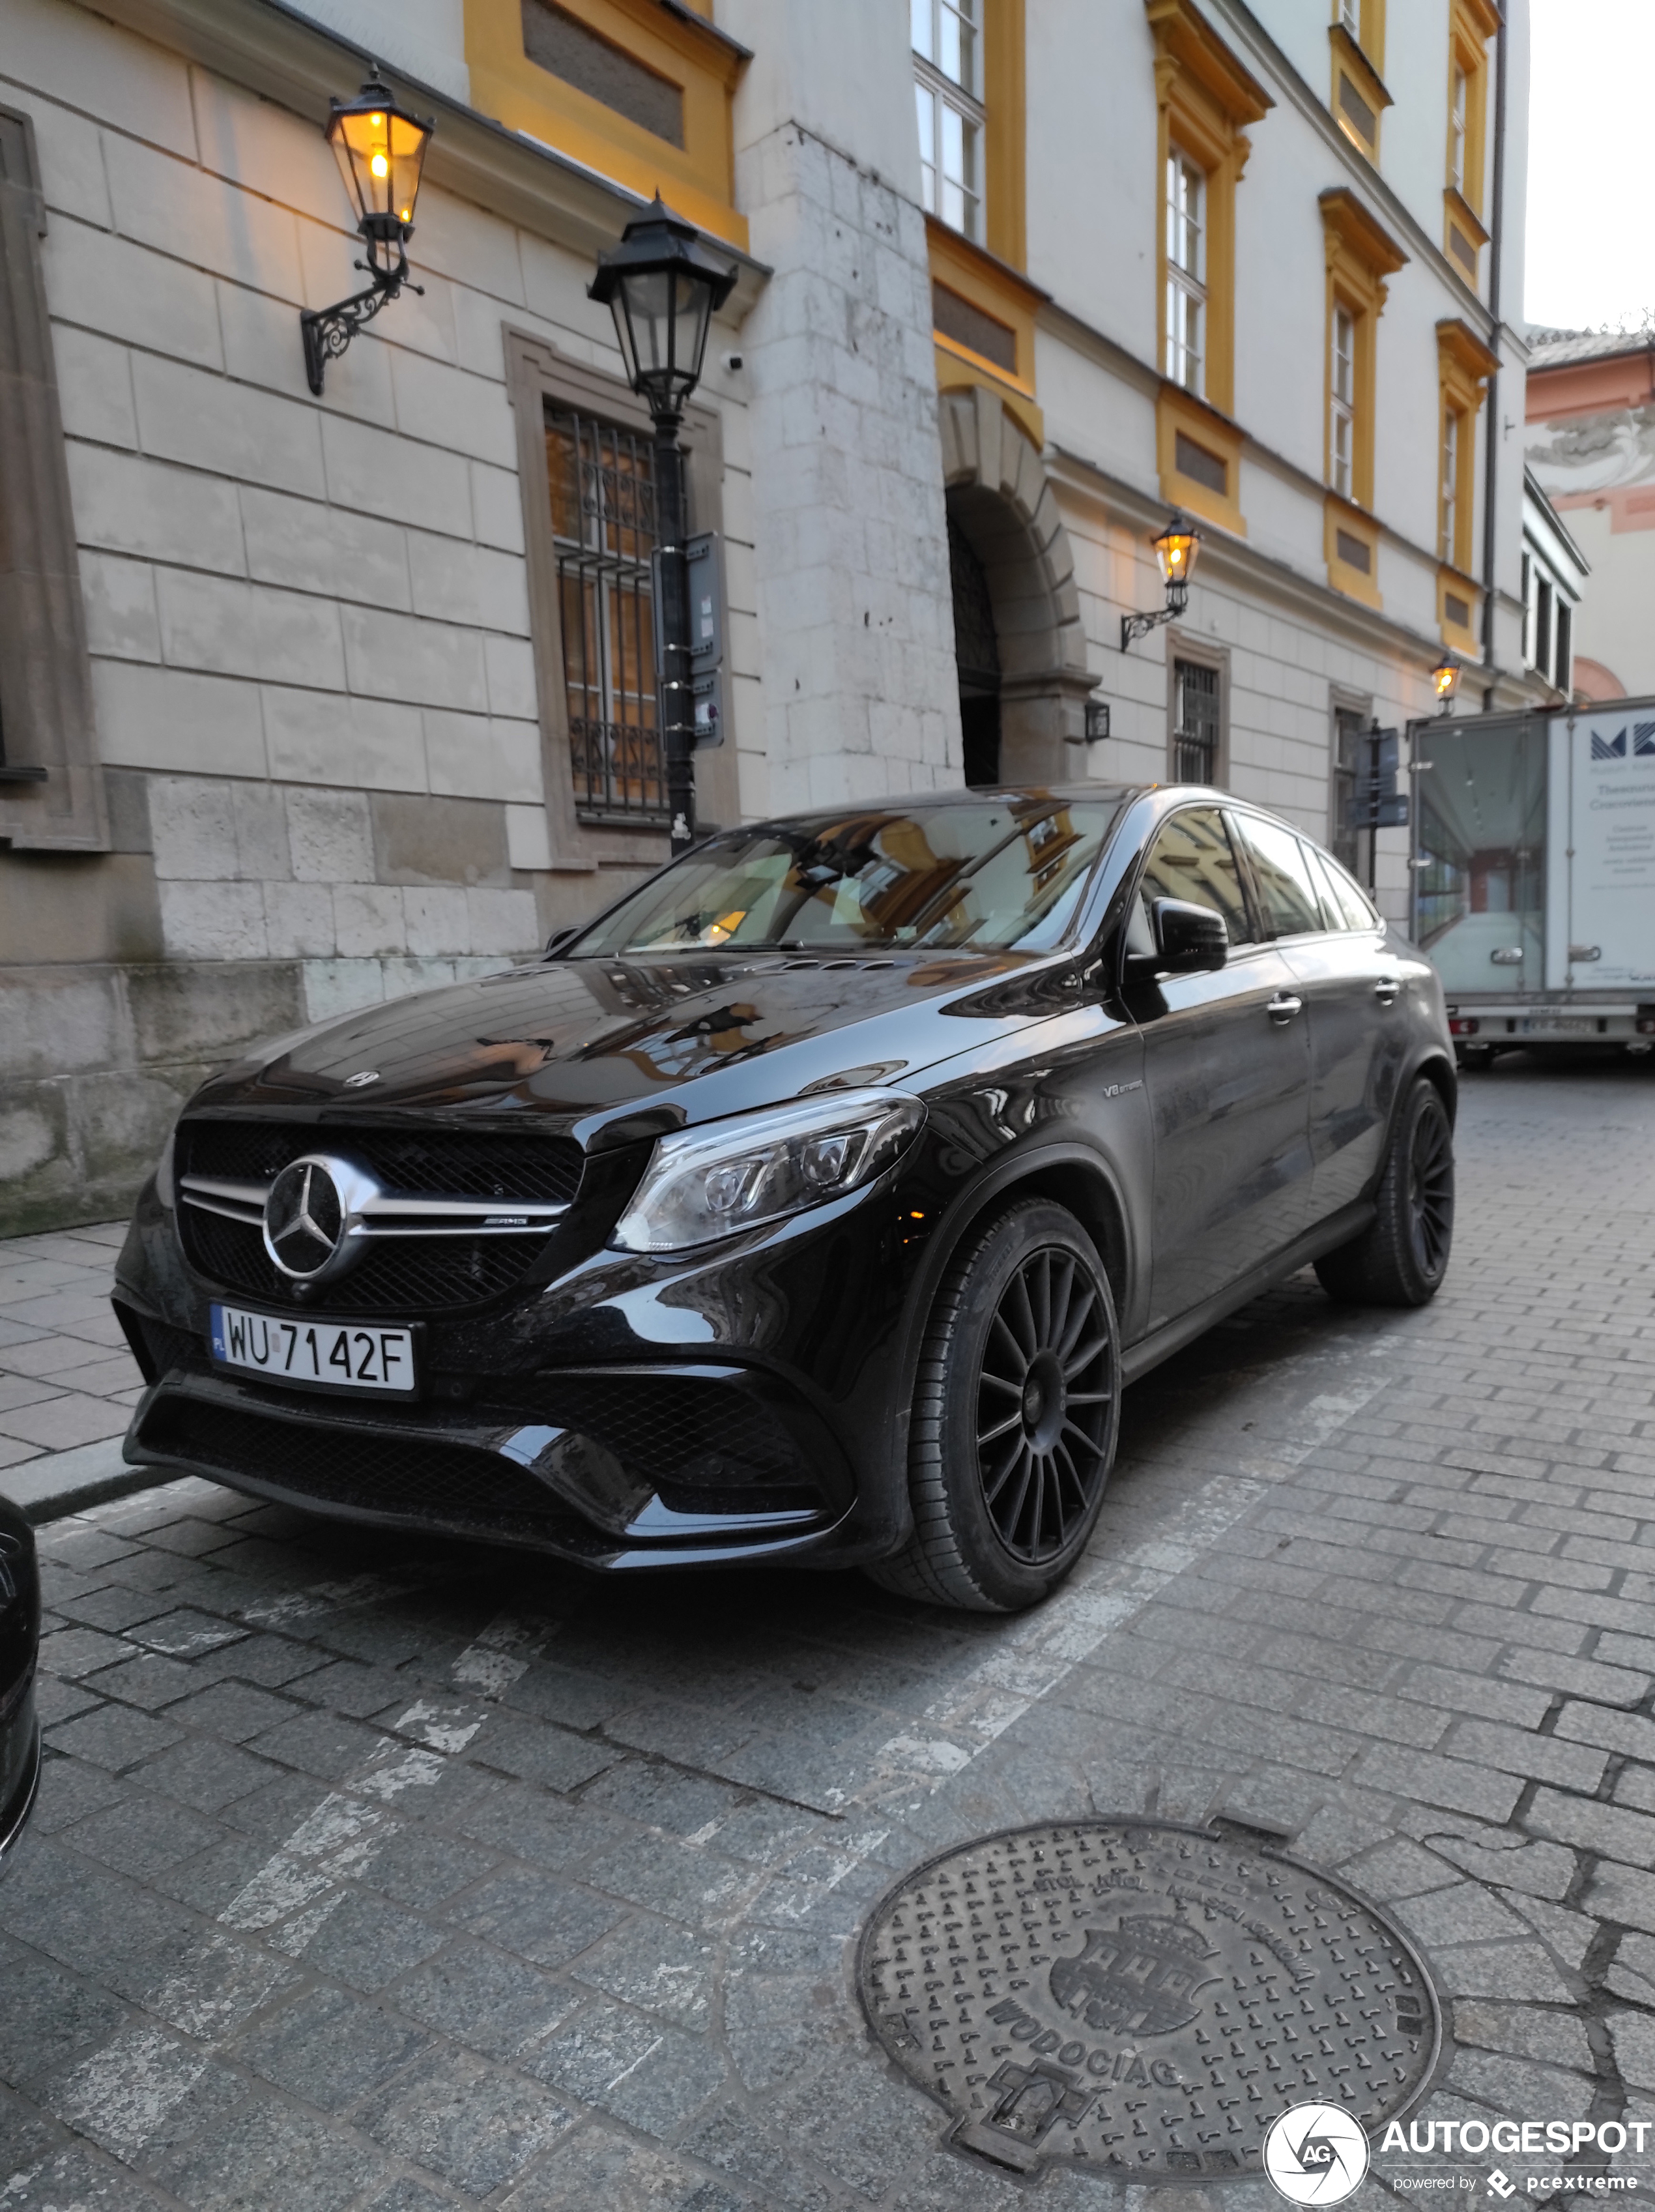
POLYGON ((1058 500, 998 394, 945 392, 938 416, 965 779, 1069 781, 1082 774, 1095 677, 1058 500))

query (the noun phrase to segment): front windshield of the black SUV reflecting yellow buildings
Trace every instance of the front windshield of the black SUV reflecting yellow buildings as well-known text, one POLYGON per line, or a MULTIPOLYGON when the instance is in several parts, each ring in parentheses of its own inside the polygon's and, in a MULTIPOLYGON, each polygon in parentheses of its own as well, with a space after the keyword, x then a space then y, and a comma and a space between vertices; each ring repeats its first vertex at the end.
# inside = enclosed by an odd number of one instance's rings
POLYGON ((1113 794, 1031 794, 730 830, 569 951, 1049 951, 1073 927, 1117 812, 1113 794))

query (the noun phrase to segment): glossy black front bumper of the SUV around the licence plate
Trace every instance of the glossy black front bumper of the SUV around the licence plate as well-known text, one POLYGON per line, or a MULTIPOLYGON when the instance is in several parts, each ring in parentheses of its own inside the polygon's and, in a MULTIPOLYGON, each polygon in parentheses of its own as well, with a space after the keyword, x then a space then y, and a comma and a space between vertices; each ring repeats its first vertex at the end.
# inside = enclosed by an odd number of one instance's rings
POLYGON ((885 1557, 907 1515, 903 1267, 889 1188, 870 1190, 712 1259, 597 1252, 487 1312, 434 1314, 418 1402, 215 1367, 208 1307, 237 1294, 201 1281, 146 1192, 115 1294, 150 1380, 126 1458, 589 1568, 885 1557))

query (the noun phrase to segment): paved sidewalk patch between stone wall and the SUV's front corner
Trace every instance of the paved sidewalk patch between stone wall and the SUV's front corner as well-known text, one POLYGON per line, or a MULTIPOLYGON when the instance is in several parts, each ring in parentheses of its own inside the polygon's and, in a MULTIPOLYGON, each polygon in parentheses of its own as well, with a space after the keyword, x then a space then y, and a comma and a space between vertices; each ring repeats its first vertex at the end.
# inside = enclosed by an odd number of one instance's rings
POLYGON ((0 1243, 0 1469, 97 1444, 131 1420, 144 1378, 108 1310, 124 1237, 124 1221, 100 1221, 0 1243))

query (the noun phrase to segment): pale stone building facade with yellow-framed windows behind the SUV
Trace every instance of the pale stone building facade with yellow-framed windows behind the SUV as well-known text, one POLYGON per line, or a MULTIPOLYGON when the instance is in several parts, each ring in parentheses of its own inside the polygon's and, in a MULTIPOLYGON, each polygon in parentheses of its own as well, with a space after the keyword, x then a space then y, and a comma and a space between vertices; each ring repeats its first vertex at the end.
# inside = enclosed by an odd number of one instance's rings
POLYGON ((666 856, 586 299, 657 188, 737 268, 704 821, 1195 772, 1345 841, 1352 732, 1445 646, 1533 697, 1524 53, 1522 0, 0 0, 0 1228, 666 856), (423 294, 314 396, 369 58, 436 124, 423 294), (1170 504, 1195 591, 1124 653, 1170 504))

